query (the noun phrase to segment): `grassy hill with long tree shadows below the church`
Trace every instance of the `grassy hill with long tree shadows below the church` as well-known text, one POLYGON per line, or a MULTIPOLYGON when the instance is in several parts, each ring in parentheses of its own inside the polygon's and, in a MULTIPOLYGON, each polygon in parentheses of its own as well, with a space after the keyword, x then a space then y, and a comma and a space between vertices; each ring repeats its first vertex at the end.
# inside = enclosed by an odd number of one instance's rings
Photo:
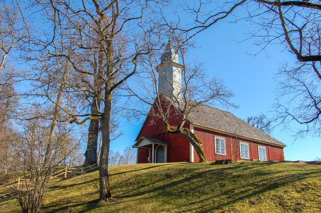
MULTIPOLYGON (((42 212, 320 212, 321 165, 237 162, 119 165, 114 201, 97 205, 98 171, 52 182, 42 212)), ((14 199, 1 212, 18 212, 14 199)))

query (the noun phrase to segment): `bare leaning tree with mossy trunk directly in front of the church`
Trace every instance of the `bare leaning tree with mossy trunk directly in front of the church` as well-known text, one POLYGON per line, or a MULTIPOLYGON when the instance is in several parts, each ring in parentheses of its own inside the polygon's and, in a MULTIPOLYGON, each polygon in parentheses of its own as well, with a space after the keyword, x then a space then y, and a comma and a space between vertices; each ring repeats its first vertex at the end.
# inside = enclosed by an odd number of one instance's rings
MULTIPOLYGON (((199 161, 206 162, 202 141, 186 127, 189 115, 197 111, 202 104, 233 106, 229 102, 232 93, 226 89, 222 80, 209 79, 202 63, 185 61, 187 50, 192 47, 189 42, 182 42, 179 36, 174 38, 174 42, 177 50, 174 50, 172 42, 169 41, 163 46, 166 47, 165 50, 162 49, 165 53, 160 55, 154 51, 142 60, 141 66, 146 76, 141 75, 136 85, 139 84, 139 90, 144 88, 145 93, 142 94, 130 87, 128 90, 151 106, 149 115, 154 119, 160 119, 166 132, 184 135, 195 148, 199 161), (178 63, 178 53, 182 58, 182 65, 178 63), (157 66, 159 58, 161 63, 157 66)), ((135 108, 135 111, 137 109, 139 108, 135 108)))

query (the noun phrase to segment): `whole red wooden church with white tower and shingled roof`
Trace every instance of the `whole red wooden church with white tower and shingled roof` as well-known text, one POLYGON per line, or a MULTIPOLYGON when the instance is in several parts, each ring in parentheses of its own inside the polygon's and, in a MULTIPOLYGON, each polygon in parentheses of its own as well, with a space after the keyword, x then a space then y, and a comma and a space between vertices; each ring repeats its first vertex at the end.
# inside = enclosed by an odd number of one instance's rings
MULTIPOLYGON (((160 58, 158 92, 166 97, 180 95, 182 88, 178 56, 169 44, 160 58)), ((179 110, 170 109, 169 122, 175 124, 179 110)), ((284 161, 284 143, 256 129, 232 113, 199 105, 188 116, 184 127, 203 143, 208 161, 235 159, 284 161)), ((193 146, 183 135, 166 132, 162 120, 152 113, 147 116, 133 147, 137 148, 137 163, 198 162, 193 146)))

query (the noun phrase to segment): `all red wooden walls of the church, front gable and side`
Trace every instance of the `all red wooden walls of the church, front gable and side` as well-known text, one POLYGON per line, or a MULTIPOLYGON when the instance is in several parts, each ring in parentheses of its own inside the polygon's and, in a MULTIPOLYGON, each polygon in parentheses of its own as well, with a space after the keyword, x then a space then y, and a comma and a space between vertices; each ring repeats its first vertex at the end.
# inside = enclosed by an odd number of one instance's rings
MULTIPOLYGON (((154 110, 156 108, 154 106, 154 110)), ((175 126, 180 121, 179 113, 175 108, 171 109, 169 123, 175 126)), ((184 125, 185 128, 189 129, 189 122, 184 125)), ((237 142, 233 136, 229 136, 222 133, 217 133, 210 130, 201 129, 199 127, 194 127, 194 133, 203 142, 203 147, 205 155, 208 161, 224 160, 224 159, 235 159, 235 151, 237 152, 237 160, 239 157, 239 142, 247 142, 249 144, 250 150, 250 160, 258 160, 258 145, 266 147, 267 160, 283 161, 284 153, 283 147, 269 145, 264 143, 259 143, 247 139, 238 138, 237 142), (214 147, 214 136, 225 138, 226 142, 226 155, 216 155, 214 147), (236 146, 236 147, 235 147, 236 146)), ((169 143, 167 148, 167 162, 182 162, 190 161, 190 143, 182 135, 173 135, 165 131, 164 124, 160 118, 147 116, 141 131, 137 136, 137 140, 142 136, 156 138, 169 143)), ((148 163, 149 151, 143 150, 142 148, 138 151, 138 163, 148 163)), ((242 159, 243 160, 243 159, 242 159)), ((194 151, 194 162, 198 162, 199 158, 197 153, 194 151)))

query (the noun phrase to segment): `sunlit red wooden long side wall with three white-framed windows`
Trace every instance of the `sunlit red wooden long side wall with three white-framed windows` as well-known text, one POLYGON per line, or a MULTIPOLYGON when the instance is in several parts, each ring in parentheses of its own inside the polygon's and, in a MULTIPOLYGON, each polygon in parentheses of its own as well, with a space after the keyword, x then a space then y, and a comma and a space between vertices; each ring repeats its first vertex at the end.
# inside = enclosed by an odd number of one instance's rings
MULTIPOLYGON (((283 147, 259 143, 259 142, 255 142, 247 139, 242 139, 242 138, 237 138, 237 142, 235 142, 236 139, 233 136, 228 136, 226 134, 201 129, 199 127, 194 127, 194 133, 203 142, 205 156, 208 161, 231 159, 231 155, 233 156, 232 159, 235 159, 235 151, 237 152, 237 160, 240 160, 239 142, 246 142, 249 144, 250 160, 253 160, 253 159, 258 160, 257 146, 260 145, 260 146, 266 147, 268 161, 269 160, 284 161, 283 147), (215 154, 215 149, 214 149, 215 136, 220 138, 225 138, 226 155, 215 154), (236 148, 235 148, 235 145, 237 146, 236 148)), ((199 158, 197 156, 197 153, 194 151, 194 162, 198 162, 198 161, 199 161, 199 158)))

